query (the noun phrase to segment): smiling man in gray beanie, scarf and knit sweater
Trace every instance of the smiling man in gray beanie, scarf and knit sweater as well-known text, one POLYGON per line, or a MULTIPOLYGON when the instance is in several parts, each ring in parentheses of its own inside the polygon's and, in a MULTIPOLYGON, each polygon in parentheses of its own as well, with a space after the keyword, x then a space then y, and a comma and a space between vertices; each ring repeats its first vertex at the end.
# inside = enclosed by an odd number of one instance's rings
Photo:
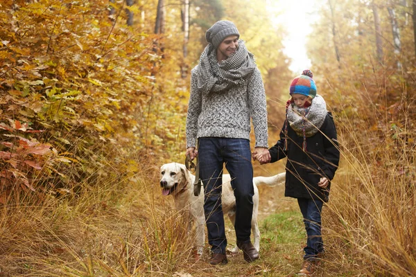
POLYGON ((223 164, 232 177, 236 197, 237 246, 244 259, 259 258, 250 242, 254 195, 250 150, 250 118, 256 139, 253 154, 268 150, 266 95, 254 56, 245 48, 234 23, 221 20, 205 34, 209 44, 191 71, 187 115, 187 155, 198 156, 204 184, 204 211, 211 265, 226 264, 224 217, 221 208, 223 164), (198 139, 198 150, 196 140, 198 139))

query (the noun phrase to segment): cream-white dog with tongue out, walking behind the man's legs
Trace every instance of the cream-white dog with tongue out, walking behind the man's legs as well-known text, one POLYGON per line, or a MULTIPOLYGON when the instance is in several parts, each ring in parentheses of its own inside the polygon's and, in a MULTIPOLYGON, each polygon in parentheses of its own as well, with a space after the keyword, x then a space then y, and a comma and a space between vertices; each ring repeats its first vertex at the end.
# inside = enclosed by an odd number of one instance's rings
MULTIPOLYGON (((196 251, 202 255, 202 249, 205 244, 205 215, 204 215, 204 194, 199 196, 193 194, 193 181, 195 176, 180 163, 166 163, 160 168, 160 186, 163 195, 172 195, 177 211, 182 215, 189 217, 189 230, 192 228, 192 222, 196 222, 196 251)), ((259 190, 257 186, 266 184, 268 186, 277 186, 284 184, 286 172, 279 173, 272 177, 254 177, 254 196, 253 196, 253 215, 252 215, 252 233, 254 236, 254 247, 260 249, 260 231, 257 224, 257 214, 259 211, 259 190)), ((229 174, 223 175, 223 194, 221 204, 224 215, 227 214, 229 220, 234 226, 236 199, 232 190, 229 174)), ((203 190, 203 188, 202 188, 203 190)), ((233 253, 239 251, 238 247, 232 249, 233 253)))

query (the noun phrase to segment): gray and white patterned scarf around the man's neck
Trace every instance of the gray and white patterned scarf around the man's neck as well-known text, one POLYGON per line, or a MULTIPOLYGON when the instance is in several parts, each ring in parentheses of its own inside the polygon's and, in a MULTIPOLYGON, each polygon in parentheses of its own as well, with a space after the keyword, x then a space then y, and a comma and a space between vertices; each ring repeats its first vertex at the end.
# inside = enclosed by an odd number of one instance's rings
POLYGON ((254 55, 245 48, 243 40, 239 40, 236 52, 223 62, 218 62, 216 48, 208 44, 196 69, 198 89, 205 93, 226 91, 234 85, 244 84, 255 68, 254 55))

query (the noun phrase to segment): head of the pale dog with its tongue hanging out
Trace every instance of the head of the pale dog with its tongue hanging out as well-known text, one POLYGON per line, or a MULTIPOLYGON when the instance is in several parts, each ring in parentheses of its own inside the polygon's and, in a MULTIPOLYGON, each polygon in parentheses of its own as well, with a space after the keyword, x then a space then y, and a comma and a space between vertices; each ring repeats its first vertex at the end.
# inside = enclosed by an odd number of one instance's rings
POLYGON ((160 167, 162 195, 175 195, 189 183, 189 172, 183 164, 165 163, 160 167))

